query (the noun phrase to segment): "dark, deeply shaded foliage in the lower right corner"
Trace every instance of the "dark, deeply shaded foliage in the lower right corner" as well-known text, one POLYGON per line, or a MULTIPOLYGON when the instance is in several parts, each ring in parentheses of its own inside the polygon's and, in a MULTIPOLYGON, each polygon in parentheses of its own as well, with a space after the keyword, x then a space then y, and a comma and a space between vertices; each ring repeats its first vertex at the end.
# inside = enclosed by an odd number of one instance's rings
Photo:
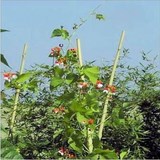
POLYGON ((143 113, 145 130, 148 134, 144 137, 145 141, 141 144, 148 148, 150 152, 145 156, 146 159, 158 159, 160 156, 160 92, 148 94, 142 102, 140 102, 140 110, 143 113))

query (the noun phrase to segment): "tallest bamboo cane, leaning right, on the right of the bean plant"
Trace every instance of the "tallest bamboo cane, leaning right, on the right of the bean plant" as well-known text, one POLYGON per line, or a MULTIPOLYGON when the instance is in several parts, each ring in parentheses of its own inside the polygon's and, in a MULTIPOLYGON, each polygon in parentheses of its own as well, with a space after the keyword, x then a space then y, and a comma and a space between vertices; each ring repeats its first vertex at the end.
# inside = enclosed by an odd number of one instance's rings
MULTIPOLYGON (((125 35, 125 31, 122 31, 120 41, 119 41, 119 45, 118 45, 118 49, 117 49, 117 53, 116 53, 116 57, 115 57, 114 64, 113 64, 113 69, 112 69, 109 85, 113 84, 113 80, 114 80, 114 76, 115 76, 115 72, 116 72, 116 68, 117 68, 117 64, 118 64, 118 60, 119 60, 119 57, 120 57, 120 52, 121 52, 121 48, 122 48, 122 44, 123 44, 123 40, 124 40, 124 35, 125 35)), ((109 92, 107 97, 106 97, 104 108, 103 108, 103 114, 102 114, 102 118, 101 118, 101 122, 100 122, 99 132, 98 132, 98 137, 99 137, 100 140, 102 138, 104 123, 105 123, 105 120, 106 120, 106 117, 107 117, 108 103, 109 103, 110 96, 111 96, 111 93, 109 92)))

